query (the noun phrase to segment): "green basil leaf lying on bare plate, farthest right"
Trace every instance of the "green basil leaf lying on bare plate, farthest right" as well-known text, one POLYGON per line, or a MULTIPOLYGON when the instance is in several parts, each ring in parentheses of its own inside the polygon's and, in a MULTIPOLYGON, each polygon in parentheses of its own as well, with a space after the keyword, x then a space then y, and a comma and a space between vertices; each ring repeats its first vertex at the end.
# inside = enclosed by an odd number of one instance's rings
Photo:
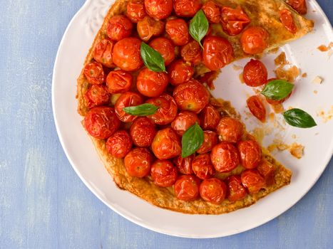
POLYGON ((317 125, 311 115, 297 108, 283 112, 283 117, 288 124, 294 127, 311 128, 317 125))

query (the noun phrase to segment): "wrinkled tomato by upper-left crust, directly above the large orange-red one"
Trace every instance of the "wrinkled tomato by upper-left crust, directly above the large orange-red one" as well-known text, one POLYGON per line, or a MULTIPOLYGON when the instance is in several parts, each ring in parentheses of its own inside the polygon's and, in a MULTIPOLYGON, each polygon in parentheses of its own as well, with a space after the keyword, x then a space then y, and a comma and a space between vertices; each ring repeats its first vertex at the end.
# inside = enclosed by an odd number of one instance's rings
POLYGON ((106 33, 108 38, 113 41, 120 41, 123 38, 130 36, 132 33, 133 23, 126 16, 113 16, 108 22, 106 33))

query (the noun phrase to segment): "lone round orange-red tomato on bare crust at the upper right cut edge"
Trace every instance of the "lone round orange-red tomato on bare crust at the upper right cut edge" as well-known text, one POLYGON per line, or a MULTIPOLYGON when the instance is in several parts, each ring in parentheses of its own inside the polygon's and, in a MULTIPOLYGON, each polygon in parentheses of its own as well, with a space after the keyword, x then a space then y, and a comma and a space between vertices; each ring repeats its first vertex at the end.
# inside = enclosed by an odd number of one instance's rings
POLYGON ((253 26, 247 28, 240 36, 242 50, 245 53, 262 53, 268 47, 270 34, 265 28, 253 26))

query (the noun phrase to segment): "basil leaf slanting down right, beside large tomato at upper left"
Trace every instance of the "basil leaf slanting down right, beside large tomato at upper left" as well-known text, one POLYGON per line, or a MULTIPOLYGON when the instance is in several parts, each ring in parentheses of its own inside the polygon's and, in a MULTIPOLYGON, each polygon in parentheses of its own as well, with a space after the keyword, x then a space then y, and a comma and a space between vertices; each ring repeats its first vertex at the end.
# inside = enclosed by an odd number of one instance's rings
POLYGON ((162 55, 145 43, 141 43, 140 54, 145 66, 154 72, 166 72, 162 55))

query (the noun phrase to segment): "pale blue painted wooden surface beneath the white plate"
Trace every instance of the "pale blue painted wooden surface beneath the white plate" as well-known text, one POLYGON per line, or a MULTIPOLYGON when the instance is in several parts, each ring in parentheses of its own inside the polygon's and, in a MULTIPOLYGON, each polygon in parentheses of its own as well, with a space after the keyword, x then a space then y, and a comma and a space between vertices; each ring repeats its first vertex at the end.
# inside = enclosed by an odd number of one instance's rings
MULTIPOLYGON (((333 161, 289 211, 227 238, 148 231, 93 196, 63 153, 51 110, 58 44, 83 1, 0 0, 0 248, 333 248, 333 161)), ((319 4, 332 22, 332 0, 319 4)))

